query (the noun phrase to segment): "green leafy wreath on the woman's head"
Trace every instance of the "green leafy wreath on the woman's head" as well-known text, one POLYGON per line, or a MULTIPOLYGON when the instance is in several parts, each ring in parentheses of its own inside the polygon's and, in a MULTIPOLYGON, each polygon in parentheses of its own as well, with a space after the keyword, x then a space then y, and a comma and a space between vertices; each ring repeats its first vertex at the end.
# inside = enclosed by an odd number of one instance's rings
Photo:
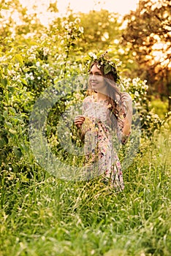
POLYGON ((99 69, 104 66, 104 75, 107 75, 109 72, 112 72, 115 77, 115 82, 120 81, 118 71, 116 70, 116 64, 110 59, 106 58, 107 50, 103 54, 96 55, 94 53, 88 53, 88 71, 91 69, 92 64, 96 62, 96 67, 99 69))

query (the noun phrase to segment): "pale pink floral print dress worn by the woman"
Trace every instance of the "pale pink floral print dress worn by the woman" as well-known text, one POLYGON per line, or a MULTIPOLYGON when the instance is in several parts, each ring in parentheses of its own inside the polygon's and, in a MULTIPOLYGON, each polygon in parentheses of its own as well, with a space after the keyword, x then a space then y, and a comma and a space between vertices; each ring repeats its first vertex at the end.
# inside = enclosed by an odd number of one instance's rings
MULTIPOLYGON (((115 150, 113 130, 110 128, 110 110, 107 100, 95 101, 94 95, 83 100, 83 129, 85 134, 84 154, 86 156, 86 172, 89 178, 103 177, 119 190, 123 190, 123 174, 121 162, 115 150)), ((116 124, 115 134, 121 140, 123 121, 116 124)), ((126 141, 121 141, 126 143, 126 141)))

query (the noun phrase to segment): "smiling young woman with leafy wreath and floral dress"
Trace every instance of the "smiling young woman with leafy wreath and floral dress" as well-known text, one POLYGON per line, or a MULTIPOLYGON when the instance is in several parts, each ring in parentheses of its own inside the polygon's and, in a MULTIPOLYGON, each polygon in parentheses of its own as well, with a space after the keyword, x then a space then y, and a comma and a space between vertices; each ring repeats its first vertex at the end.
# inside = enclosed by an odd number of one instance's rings
POLYGON ((121 163, 115 149, 115 135, 126 143, 132 125, 132 99, 119 91, 115 65, 102 56, 89 72, 88 91, 83 100, 83 115, 75 117, 84 139, 85 166, 90 177, 102 175, 103 181, 123 189, 121 163))

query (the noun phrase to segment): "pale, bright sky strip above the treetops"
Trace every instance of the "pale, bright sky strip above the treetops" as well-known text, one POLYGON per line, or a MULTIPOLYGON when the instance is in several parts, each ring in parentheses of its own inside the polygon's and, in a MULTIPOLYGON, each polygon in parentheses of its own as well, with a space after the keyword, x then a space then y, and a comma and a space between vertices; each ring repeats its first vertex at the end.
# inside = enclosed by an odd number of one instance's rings
MULTIPOLYGON (((47 20, 53 19, 52 14, 45 13, 49 3, 55 0, 20 0, 23 7, 28 7, 28 12, 34 12, 32 6, 39 6, 39 18, 43 24, 47 24, 47 20)), ((90 10, 109 10, 110 12, 118 12, 125 15, 130 10, 136 10, 138 0, 57 0, 59 15, 66 14, 66 8, 69 6, 74 12, 89 12, 90 10), (69 4, 70 3, 70 4, 69 4)))

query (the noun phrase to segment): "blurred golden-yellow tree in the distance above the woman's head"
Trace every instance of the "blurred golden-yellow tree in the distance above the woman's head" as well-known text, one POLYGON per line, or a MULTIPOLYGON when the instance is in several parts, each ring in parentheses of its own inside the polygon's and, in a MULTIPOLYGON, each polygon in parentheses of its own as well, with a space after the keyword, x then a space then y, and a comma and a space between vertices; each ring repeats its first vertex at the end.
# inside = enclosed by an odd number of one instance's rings
POLYGON ((80 25, 84 29, 81 45, 84 50, 107 48, 115 39, 121 37, 118 15, 107 10, 80 13, 80 25))

